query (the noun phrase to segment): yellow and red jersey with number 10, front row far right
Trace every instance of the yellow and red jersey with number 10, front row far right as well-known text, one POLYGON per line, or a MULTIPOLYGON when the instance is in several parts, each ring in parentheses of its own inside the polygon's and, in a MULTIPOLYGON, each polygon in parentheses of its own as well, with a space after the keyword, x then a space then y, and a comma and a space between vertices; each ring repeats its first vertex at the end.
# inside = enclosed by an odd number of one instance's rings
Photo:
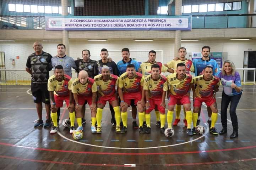
POLYGON ((214 87, 219 86, 219 78, 212 76, 211 80, 206 81, 203 79, 204 75, 194 77, 194 84, 196 84, 196 97, 197 98, 208 98, 213 96, 214 87))

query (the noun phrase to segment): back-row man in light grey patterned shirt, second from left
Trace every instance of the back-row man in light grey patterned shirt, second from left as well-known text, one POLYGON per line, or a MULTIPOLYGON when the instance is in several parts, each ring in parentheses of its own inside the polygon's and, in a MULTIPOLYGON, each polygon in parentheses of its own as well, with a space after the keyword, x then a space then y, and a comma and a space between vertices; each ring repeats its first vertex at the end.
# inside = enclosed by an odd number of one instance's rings
MULTIPOLYGON (((51 65, 53 66, 53 70, 55 71, 55 66, 61 65, 64 69, 64 73, 72 78, 71 68, 76 69, 76 64, 72 57, 66 55, 66 46, 64 44, 57 45, 57 53, 58 55, 51 58, 51 65)), ((57 110, 58 119, 57 122, 59 124, 60 120, 60 107, 57 110)))

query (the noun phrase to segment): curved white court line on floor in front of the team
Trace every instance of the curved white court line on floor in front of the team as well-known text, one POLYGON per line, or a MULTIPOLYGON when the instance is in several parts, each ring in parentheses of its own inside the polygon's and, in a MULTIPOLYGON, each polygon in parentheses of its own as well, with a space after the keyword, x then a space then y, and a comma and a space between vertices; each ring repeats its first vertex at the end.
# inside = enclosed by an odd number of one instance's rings
POLYGON ((195 138, 194 140, 191 140, 191 141, 187 141, 187 142, 183 142, 183 143, 176 143, 176 144, 173 144, 173 145, 155 146, 155 147, 146 147, 146 148, 122 148, 122 147, 109 147, 109 146, 91 145, 91 144, 88 144, 88 143, 78 142, 78 141, 72 140, 70 138, 67 138, 66 136, 63 136, 59 131, 57 131, 58 135, 60 135, 62 138, 66 139, 68 141, 79 143, 79 144, 82 144, 82 145, 87 145, 87 146, 100 147, 100 148, 109 148, 109 149, 156 149, 156 148, 165 148, 165 147, 184 145, 186 143, 191 143, 191 142, 197 141, 200 138, 205 137, 208 134, 208 132, 209 132, 209 128, 208 128, 208 125, 206 124, 206 132, 202 136, 200 136, 198 138, 195 138))

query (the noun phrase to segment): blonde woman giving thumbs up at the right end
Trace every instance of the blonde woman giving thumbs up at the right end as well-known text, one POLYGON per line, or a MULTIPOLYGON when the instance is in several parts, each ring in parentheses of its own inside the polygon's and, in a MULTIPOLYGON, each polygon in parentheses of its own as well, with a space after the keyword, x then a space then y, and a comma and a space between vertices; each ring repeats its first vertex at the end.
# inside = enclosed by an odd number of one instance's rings
POLYGON ((230 118, 233 126, 233 133, 229 136, 230 138, 238 137, 238 120, 236 116, 236 107, 242 95, 241 79, 239 73, 235 69, 235 65, 232 61, 224 61, 222 71, 218 74, 221 80, 223 91, 221 100, 221 123, 222 130, 219 132, 220 135, 227 133, 227 109, 230 103, 230 118))

